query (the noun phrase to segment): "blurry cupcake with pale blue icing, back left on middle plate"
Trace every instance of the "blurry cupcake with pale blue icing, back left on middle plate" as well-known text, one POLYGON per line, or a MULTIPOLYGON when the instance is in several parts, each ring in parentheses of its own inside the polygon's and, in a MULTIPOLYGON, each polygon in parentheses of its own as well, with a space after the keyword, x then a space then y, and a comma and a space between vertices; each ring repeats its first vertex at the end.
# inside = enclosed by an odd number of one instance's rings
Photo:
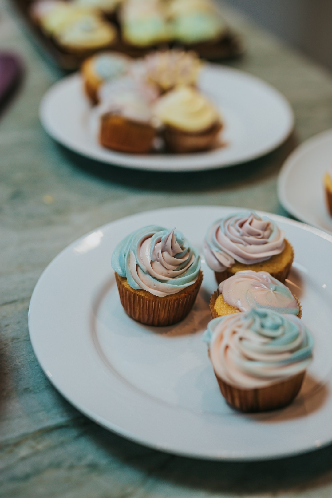
POLYGON ((86 59, 81 74, 84 89, 93 104, 99 102, 98 91, 105 82, 111 82, 128 73, 131 58, 117 52, 103 52, 86 59))

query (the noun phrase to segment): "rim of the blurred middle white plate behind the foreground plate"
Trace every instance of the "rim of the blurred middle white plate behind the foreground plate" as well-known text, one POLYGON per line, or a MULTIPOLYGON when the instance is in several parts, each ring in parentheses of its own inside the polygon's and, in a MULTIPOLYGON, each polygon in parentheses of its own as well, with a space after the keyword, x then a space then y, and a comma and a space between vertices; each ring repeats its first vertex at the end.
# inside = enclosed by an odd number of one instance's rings
MULTIPOLYGON (((203 171, 203 170, 209 170, 209 169, 219 169, 219 168, 225 168, 225 167, 231 167, 231 166, 236 166, 238 164, 242 164, 245 162, 249 162, 255 159, 258 159, 259 157, 262 157, 269 152, 272 152, 276 148, 278 148, 282 143, 287 140, 287 138, 290 136, 294 129, 295 125, 295 115, 292 106, 290 105, 289 101, 286 99, 286 97, 279 91, 277 90, 273 85, 270 83, 264 81, 263 79, 254 76, 250 73, 247 73, 245 71, 241 71, 240 69, 236 68, 231 68, 227 66, 221 66, 218 64, 212 64, 212 63, 206 63, 205 67, 207 69, 212 68, 213 70, 220 70, 223 72, 227 72, 229 74, 234 74, 234 75, 239 75, 240 77, 245 77, 248 80, 251 80, 252 82, 255 82, 256 85, 260 85, 262 87, 265 87, 267 91, 275 99, 278 99, 280 107, 283 107, 283 112, 285 113, 285 116, 287 115, 287 127, 285 128, 283 134, 277 137, 274 141, 271 141, 270 144, 267 146, 263 146, 260 148, 260 150, 257 150, 255 153, 251 154, 243 154, 238 156, 235 160, 227 161, 227 162, 222 162, 220 159, 218 159, 218 156, 211 156, 207 152, 196 152, 193 154, 186 154, 189 159, 184 160, 184 155, 182 154, 172 154, 169 157, 167 156, 167 165, 166 165, 166 160, 165 165, 158 165, 155 163, 154 158, 158 157, 158 154, 156 155, 135 155, 135 154, 126 154, 126 153, 120 153, 120 152, 115 152, 108 150, 108 158, 104 155, 105 149, 101 148, 102 152, 99 153, 91 153, 85 146, 83 147, 78 147, 76 144, 73 145, 70 139, 68 137, 64 137, 61 135, 61 133, 58 132, 56 127, 53 125, 52 120, 50 120, 48 116, 48 105, 50 100, 53 98, 54 93, 57 91, 58 88, 62 87, 63 85, 66 85, 68 81, 71 81, 73 79, 80 78, 79 73, 74 73, 72 75, 66 76, 65 78, 62 78, 60 81, 56 82, 53 84, 48 91, 45 93, 45 95, 42 97, 40 105, 39 105, 39 119, 40 122, 45 129, 45 131, 58 143, 64 145, 66 148, 69 150, 72 150, 79 155, 82 155, 84 157, 88 157, 93 160, 97 160, 100 162, 103 162, 105 164, 109 165, 116 165, 120 167, 125 167, 125 168, 130 168, 130 169, 138 169, 138 170, 145 170, 145 171, 169 171, 169 172, 181 172, 181 171, 203 171), (190 164, 190 156, 193 158, 200 158, 201 161, 196 164, 190 164), (137 160, 135 160, 137 157, 137 160), (144 161, 141 161, 140 159, 144 158, 144 161), (189 163, 188 163, 189 161, 189 163)), ((159 157, 163 158, 164 156, 161 154, 159 157)))

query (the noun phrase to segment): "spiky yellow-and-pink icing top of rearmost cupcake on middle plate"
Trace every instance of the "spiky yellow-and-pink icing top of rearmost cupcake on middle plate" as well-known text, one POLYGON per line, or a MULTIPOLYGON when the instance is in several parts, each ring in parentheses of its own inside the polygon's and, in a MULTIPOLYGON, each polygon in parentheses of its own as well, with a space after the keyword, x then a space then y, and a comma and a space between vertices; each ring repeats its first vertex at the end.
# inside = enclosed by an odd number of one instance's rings
POLYGON ((138 62, 143 77, 161 90, 177 85, 195 85, 202 63, 195 52, 165 50, 147 55, 138 62))

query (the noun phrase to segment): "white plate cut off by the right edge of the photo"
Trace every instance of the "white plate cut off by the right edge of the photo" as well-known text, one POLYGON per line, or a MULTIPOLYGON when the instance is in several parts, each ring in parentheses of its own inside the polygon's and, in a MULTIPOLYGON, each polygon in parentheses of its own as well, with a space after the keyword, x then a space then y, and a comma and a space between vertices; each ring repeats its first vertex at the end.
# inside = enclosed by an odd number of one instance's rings
POLYGON ((332 233, 323 177, 332 163, 332 130, 299 145, 287 158, 278 178, 278 197, 299 220, 332 233))

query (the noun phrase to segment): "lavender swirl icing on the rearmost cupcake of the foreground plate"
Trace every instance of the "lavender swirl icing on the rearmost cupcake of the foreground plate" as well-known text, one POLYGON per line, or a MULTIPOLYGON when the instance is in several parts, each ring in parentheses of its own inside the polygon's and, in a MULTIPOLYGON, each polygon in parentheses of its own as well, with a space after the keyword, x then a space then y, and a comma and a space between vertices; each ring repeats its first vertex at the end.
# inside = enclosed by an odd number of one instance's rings
POLYGON ((266 261, 285 248, 284 232, 254 211, 225 216, 211 225, 204 240, 210 268, 224 271, 235 261, 255 264, 266 261))

